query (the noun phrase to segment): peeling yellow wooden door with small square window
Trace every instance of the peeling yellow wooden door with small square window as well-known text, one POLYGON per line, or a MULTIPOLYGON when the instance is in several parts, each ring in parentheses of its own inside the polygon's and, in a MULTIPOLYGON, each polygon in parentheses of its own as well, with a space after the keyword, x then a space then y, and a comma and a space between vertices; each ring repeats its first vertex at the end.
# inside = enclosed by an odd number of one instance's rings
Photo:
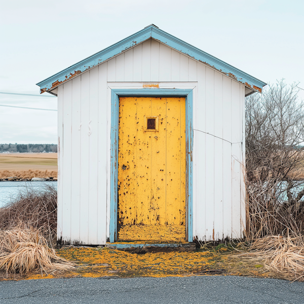
POLYGON ((185 241, 185 98, 121 97, 118 240, 185 241))

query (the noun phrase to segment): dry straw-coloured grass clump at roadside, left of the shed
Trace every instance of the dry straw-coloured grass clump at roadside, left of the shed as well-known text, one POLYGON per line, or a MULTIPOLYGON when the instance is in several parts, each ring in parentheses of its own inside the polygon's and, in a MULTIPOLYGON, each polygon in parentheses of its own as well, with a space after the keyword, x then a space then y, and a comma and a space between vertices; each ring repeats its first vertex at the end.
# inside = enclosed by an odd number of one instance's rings
POLYGON ((41 273, 74 268, 74 263, 56 255, 47 240, 34 229, 0 230, 0 270, 19 273, 40 270, 41 273))

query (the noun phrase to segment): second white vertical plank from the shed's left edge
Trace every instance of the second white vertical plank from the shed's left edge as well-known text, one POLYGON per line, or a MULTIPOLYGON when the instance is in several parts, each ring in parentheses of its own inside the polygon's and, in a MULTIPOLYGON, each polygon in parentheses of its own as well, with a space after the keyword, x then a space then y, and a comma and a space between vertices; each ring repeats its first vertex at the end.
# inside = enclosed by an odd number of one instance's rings
POLYGON ((72 82, 63 85, 63 163, 62 163, 62 232, 63 241, 71 237, 71 124, 72 82))

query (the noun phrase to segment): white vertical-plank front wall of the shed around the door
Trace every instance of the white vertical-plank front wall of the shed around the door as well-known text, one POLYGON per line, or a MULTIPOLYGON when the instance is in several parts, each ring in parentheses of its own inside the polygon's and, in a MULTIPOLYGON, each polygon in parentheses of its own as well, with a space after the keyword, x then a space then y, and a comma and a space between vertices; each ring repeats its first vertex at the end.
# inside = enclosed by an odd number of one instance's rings
POLYGON ((194 236, 242 236, 245 87, 148 40, 58 87, 58 239, 105 244, 110 87, 142 88, 149 82, 194 88, 194 236))

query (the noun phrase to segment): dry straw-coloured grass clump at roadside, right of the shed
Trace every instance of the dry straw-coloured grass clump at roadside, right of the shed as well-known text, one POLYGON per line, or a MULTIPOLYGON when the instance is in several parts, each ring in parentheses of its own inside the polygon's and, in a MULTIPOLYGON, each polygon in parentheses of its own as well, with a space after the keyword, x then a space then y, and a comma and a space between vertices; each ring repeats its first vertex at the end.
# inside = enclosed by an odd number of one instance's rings
POLYGON ((280 278, 304 281, 303 237, 268 236, 257 239, 245 255, 263 260, 264 267, 280 278))

